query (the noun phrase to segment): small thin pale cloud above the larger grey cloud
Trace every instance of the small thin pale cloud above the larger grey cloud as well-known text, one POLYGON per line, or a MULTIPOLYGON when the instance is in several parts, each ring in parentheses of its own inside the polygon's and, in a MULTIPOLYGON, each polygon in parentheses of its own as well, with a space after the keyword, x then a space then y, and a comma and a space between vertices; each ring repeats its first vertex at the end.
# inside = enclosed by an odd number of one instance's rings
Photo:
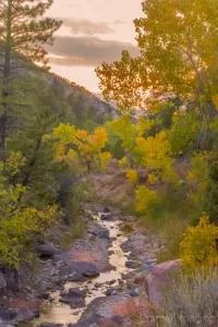
POLYGON ((71 33, 74 35, 95 35, 95 34, 111 34, 114 33, 112 28, 105 22, 92 22, 83 19, 61 19, 63 25, 70 27, 71 33))

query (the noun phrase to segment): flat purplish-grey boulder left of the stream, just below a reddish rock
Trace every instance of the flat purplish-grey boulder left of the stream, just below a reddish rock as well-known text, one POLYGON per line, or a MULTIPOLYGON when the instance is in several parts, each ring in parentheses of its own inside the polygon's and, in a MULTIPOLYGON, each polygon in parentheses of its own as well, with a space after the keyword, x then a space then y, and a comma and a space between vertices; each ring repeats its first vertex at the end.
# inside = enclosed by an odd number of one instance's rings
POLYGON ((98 277, 100 274, 93 263, 86 262, 72 262, 71 271, 75 275, 82 275, 84 277, 98 277))

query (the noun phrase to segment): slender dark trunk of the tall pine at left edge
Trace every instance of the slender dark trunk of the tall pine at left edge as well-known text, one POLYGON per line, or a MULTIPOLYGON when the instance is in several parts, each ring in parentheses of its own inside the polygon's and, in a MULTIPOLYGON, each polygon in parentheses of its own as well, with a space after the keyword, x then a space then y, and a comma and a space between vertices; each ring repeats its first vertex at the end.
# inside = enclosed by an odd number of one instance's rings
POLYGON ((7 138, 7 120, 9 118, 9 81, 11 73, 11 16, 12 16, 12 0, 8 0, 7 13, 7 39, 3 61, 3 86, 2 86, 2 109, 3 113, 0 116, 0 159, 4 158, 5 138, 7 138))

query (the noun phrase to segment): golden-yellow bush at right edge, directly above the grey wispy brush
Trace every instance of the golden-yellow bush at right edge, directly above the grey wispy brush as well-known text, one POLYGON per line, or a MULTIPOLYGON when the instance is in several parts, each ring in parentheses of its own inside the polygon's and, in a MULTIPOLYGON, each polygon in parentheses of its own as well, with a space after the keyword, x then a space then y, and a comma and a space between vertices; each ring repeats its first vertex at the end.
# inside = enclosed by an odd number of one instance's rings
POLYGON ((218 227, 205 214, 196 227, 190 227, 181 242, 181 258, 189 270, 217 263, 218 227))

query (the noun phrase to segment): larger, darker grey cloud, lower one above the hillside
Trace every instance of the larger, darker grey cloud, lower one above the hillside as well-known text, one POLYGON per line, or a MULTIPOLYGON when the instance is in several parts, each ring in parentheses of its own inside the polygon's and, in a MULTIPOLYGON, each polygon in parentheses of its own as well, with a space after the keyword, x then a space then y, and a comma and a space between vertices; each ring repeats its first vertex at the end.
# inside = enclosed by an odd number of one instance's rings
POLYGON ((55 45, 47 47, 50 63, 69 66, 97 66, 104 61, 111 63, 121 59, 128 50, 132 57, 138 56, 136 46, 117 40, 104 40, 94 36, 57 36, 55 45))

